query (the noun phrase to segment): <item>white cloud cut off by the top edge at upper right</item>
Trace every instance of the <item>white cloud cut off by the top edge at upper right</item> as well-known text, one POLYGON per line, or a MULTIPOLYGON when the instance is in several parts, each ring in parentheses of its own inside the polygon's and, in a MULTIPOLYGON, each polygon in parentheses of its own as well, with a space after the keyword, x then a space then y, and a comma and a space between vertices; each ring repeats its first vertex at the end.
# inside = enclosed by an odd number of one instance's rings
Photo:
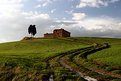
POLYGON ((118 2, 119 0, 80 0, 80 4, 77 5, 77 8, 83 7, 101 7, 108 6, 110 3, 118 2))

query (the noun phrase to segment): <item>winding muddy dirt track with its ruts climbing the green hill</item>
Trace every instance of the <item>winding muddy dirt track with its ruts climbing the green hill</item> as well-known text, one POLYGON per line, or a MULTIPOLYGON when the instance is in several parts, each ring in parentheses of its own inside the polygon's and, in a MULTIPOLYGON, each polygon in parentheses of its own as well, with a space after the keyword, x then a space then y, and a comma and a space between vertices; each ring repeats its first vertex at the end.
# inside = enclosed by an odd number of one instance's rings
MULTIPOLYGON (((72 60, 73 59, 72 57, 79 55, 80 53, 82 53, 83 58, 86 58, 89 52, 93 53, 94 51, 100 51, 100 50, 105 49, 105 48, 107 48, 106 45, 96 46, 96 48, 94 46, 90 46, 90 47, 86 47, 86 48, 75 49, 75 50, 71 50, 71 51, 68 51, 68 52, 65 52, 65 53, 61 53, 57 56, 49 57, 46 60, 47 68, 51 68, 51 66, 50 66, 51 62, 50 61, 57 58, 55 61, 60 63, 60 65, 62 65, 64 68, 69 69, 72 72, 79 74, 80 77, 84 78, 85 80, 87 80, 87 81, 98 81, 98 79, 90 77, 86 73, 82 72, 79 69, 80 67, 72 67, 69 64, 70 62, 68 60, 65 60, 65 58, 69 57, 70 60, 72 60), (88 51, 86 52, 86 50, 88 50, 88 51)), ((95 72, 98 73, 98 74, 104 74, 104 73, 101 73, 101 72, 98 72, 98 71, 95 71, 95 72)), ((113 75, 110 75, 110 76, 116 77, 116 76, 113 76, 113 75)), ((116 77, 116 78, 120 78, 120 77, 116 77)), ((104 81, 106 81, 106 80, 104 80, 104 81)))

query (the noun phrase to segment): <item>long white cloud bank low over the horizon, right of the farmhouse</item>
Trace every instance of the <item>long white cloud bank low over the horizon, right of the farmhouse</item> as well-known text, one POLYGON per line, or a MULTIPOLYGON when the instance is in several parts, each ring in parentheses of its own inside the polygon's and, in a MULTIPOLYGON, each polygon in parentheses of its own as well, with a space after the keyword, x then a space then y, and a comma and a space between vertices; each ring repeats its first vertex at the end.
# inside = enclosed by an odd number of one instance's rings
MULTIPOLYGON (((74 15, 72 16, 73 19, 74 15)), ((77 17, 73 20, 58 20, 56 23, 59 24, 53 25, 52 29, 64 28, 72 36, 121 37, 121 20, 111 17, 77 17)))

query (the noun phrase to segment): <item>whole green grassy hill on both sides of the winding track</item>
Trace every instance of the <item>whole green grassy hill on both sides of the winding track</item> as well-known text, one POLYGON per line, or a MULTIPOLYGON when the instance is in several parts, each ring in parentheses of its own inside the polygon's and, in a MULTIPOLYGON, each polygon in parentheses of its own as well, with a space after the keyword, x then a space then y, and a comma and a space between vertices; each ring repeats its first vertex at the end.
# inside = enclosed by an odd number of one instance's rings
MULTIPOLYGON (((39 81, 41 72, 48 70, 48 57, 94 43, 108 43, 111 48, 89 55, 89 60, 111 67, 121 67, 121 39, 72 37, 22 40, 0 44, 0 81, 39 81)), ((57 67, 63 69, 61 66, 57 67)))

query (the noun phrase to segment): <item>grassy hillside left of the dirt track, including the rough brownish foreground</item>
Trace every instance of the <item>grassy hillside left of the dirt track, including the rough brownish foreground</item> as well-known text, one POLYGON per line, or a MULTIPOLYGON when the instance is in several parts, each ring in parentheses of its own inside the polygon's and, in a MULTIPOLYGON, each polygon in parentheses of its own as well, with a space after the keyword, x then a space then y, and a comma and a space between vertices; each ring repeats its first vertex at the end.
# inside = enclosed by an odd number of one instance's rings
POLYGON ((86 46, 71 39, 43 38, 0 44, 0 81, 25 81, 29 75, 41 81, 41 72, 47 70, 45 60, 48 57, 86 46))

